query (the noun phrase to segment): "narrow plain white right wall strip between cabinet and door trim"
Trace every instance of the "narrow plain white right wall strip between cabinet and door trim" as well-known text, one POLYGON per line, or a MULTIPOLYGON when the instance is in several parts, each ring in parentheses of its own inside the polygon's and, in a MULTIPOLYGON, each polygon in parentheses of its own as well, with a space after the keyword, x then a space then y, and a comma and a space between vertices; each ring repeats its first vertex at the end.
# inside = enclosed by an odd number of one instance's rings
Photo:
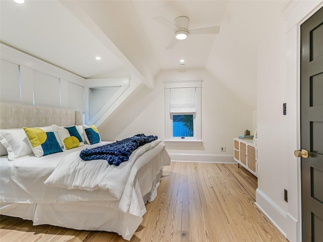
MULTIPOLYGON (((257 127, 258 127, 258 193, 268 197, 286 220, 288 204, 284 201, 287 187, 286 128, 288 116, 283 115, 286 100, 286 23, 282 11, 267 8, 271 18, 258 42, 257 58, 257 127), (270 33, 270 34, 268 34, 270 33)), ((287 103, 287 113, 291 103, 287 103)), ((296 122, 296 120, 295 120, 296 122)), ((291 201, 292 202, 292 201, 291 201)), ((286 235, 286 221, 263 208, 286 235)))

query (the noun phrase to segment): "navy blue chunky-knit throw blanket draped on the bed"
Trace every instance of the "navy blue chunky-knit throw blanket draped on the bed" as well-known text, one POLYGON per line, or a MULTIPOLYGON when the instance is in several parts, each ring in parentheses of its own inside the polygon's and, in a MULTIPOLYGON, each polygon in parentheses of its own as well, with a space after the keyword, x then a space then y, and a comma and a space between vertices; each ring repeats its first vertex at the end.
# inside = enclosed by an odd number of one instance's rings
POLYGON ((129 160, 129 156, 138 147, 157 139, 157 136, 138 134, 133 137, 102 145, 92 149, 82 150, 80 158, 83 160, 107 160, 110 165, 120 165, 129 160))

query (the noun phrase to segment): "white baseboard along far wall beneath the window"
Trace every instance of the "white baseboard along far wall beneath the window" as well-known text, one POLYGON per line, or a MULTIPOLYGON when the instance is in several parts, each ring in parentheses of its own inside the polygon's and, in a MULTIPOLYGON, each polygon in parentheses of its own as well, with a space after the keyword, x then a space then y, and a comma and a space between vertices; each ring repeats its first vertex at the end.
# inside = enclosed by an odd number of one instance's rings
POLYGON ((185 162, 207 162, 207 163, 232 163, 236 164, 233 155, 211 155, 211 154, 180 154, 169 153, 172 161, 185 162))

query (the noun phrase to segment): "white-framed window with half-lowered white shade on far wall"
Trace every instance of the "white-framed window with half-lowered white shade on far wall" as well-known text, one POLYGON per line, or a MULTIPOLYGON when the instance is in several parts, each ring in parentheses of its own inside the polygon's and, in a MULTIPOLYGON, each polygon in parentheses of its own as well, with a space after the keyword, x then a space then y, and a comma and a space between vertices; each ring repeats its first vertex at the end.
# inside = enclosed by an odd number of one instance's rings
POLYGON ((165 83, 165 140, 201 140, 201 81, 165 83))

